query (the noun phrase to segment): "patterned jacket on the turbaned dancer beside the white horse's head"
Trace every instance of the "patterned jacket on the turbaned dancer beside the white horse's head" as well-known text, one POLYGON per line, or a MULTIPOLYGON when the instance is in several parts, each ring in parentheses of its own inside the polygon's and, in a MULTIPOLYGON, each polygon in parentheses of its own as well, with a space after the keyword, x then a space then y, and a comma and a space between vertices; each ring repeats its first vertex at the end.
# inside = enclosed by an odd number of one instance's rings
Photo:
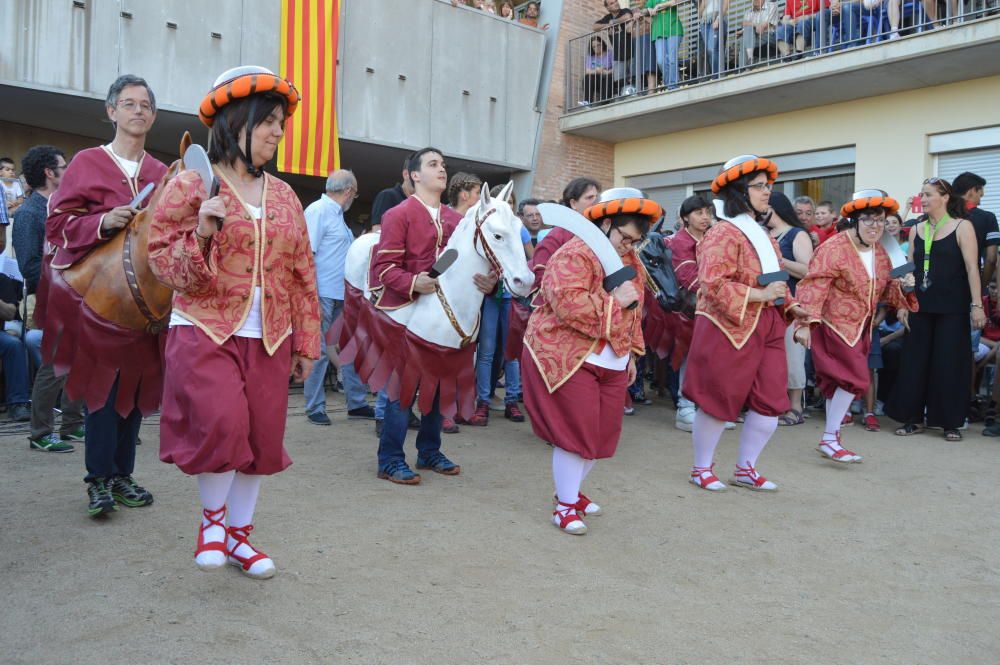
POLYGON ((622 262, 636 270, 632 285, 639 306, 623 309, 602 286, 604 269, 582 240, 574 238, 549 260, 542 278, 543 304, 528 321, 524 344, 549 392, 555 392, 602 342, 618 356, 646 352, 642 337, 642 300, 646 272, 635 252, 622 262))

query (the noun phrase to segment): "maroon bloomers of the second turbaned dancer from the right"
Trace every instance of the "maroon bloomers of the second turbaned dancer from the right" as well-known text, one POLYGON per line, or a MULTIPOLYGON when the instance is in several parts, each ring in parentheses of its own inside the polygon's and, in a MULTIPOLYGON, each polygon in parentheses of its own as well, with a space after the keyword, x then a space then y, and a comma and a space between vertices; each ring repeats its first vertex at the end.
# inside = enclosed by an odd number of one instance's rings
POLYGON ((694 335, 684 371, 684 396, 708 415, 732 422, 746 406, 762 416, 789 409, 787 325, 774 307, 760 313, 757 328, 737 349, 704 316, 695 316, 694 335))

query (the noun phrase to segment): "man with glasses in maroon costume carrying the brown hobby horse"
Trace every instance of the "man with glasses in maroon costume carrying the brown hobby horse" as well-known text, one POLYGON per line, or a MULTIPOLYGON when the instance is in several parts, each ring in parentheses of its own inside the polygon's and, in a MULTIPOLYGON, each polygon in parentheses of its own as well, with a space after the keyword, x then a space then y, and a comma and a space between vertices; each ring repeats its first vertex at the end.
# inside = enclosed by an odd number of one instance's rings
POLYGON ((49 201, 45 237, 52 251, 44 259, 36 306, 36 318, 43 311, 46 362, 57 375, 69 373, 67 394, 85 400, 90 411, 84 480, 92 517, 117 510, 119 503, 153 502, 132 471, 140 409, 156 409, 162 390, 158 336, 97 316, 61 275, 131 222, 139 210, 130 202, 167 171, 144 150, 156 119, 156 98, 146 82, 120 76, 105 105, 114 140, 77 153, 49 201))

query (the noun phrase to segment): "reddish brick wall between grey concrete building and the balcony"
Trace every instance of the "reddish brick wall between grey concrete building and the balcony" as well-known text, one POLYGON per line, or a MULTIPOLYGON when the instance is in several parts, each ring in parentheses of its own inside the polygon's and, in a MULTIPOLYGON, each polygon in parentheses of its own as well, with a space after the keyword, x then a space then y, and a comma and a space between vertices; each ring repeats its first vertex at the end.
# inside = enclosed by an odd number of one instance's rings
POLYGON ((559 116, 564 112, 566 99, 566 44, 574 37, 591 32, 594 21, 606 13, 602 0, 568 0, 564 4, 559 48, 553 64, 535 169, 533 195, 536 197, 558 200, 566 183, 577 176, 596 178, 602 187, 613 184, 612 144, 559 131, 559 116))

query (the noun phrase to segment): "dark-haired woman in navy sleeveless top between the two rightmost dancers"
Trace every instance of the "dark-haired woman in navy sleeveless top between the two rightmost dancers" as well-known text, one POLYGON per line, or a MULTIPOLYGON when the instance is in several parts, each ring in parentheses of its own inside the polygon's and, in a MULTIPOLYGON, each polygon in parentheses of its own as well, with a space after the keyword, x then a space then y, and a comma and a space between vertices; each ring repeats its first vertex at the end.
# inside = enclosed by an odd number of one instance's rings
MULTIPOLYGON (((771 237, 778 241, 781 248, 781 258, 784 259, 785 270, 788 271, 788 290, 795 295, 795 287, 799 280, 806 276, 809 261, 812 260, 812 238, 805 229, 795 208, 788 197, 781 192, 771 192, 768 199, 771 206, 767 218, 767 228, 771 237)), ((806 387, 806 349, 792 339, 793 326, 785 331, 785 357, 788 361, 788 401, 791 408, 778 418, 779 425, 801 425, 805 422, 802 416, 802 391, 806 387)))

